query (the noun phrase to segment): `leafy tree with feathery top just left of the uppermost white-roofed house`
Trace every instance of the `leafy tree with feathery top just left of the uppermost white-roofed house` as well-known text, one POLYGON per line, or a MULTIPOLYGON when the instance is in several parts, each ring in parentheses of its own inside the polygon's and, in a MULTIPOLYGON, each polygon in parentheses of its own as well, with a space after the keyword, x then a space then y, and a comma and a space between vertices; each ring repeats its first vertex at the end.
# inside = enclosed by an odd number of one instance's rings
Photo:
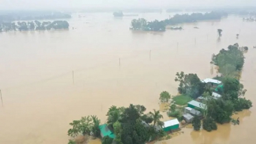
POLYGON ((199 77, 194 73, 184 74, 183 71, 181 73, 176 73, 175 81, 180 82, 178 86, 178 92, 181 94, 189 95, 190 97, 196 99, 205 90, 205 84, 201 82, 199 77))

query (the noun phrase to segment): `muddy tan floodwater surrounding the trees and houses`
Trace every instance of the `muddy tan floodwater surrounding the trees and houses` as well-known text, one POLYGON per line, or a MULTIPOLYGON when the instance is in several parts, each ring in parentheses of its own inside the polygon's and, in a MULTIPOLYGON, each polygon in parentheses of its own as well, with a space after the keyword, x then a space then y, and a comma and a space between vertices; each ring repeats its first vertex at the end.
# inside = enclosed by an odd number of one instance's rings
MULTIPOLYGON (((69 30, 0 34, 1 144, 67 143, 71 121, 97 115, 104 123, 112 105, 159 110, 161 91, 177 93, 176 72, 214 77, 211 55, 234 43, 249 47, 241 82, 248 90, 246 98, 256 104, 254 22, 229 16, 184 24, 181 31, 132 32, 130 21, 137 17, 81 15, 73 14, 69 30), (218 28, 223 29, 219 40, 218 28)), ((240 125, 218 125, 214 132, 183 128, 180 136, 158 143, 255 143, 255 108, 233 116, 240 117, 240 125)), ((163 115, 163 120, 169 119, 166 112, 163 115)))

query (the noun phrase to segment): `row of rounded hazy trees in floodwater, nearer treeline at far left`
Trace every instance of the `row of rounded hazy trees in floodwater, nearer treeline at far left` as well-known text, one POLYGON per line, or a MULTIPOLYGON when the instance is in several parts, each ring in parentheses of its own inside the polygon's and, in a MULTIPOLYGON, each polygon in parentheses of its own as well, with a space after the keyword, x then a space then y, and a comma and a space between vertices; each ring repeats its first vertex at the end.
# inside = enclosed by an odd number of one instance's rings
POLYGON ((32 22, 17 22, 17 23, 0 23, 0 32, 10 31, 30 31, 30 30, 50 30, 50 29, 68 29, 69 23, 67 21, 39 21, 32 22))

